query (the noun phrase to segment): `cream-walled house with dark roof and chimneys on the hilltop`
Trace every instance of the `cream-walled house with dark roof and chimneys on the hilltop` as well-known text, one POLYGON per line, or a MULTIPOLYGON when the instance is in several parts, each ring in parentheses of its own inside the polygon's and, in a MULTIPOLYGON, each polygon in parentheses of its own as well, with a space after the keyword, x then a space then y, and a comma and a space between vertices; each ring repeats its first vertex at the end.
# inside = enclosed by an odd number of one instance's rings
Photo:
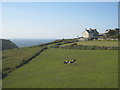
POLYGON ((96 29, 85 29, 85 31, 82 33, 82 37, 86 40, 93 40, 98 39, 99 32, 96 29))

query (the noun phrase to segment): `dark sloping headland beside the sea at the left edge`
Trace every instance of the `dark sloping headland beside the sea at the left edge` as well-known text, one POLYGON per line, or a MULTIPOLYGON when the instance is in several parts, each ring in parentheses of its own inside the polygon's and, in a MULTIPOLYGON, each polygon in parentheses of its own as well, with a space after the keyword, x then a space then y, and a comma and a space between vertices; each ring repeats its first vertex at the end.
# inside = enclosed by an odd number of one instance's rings
POLYGON ((15 43, 7 39, 0 39, 0 50, 19 48, 15 43))

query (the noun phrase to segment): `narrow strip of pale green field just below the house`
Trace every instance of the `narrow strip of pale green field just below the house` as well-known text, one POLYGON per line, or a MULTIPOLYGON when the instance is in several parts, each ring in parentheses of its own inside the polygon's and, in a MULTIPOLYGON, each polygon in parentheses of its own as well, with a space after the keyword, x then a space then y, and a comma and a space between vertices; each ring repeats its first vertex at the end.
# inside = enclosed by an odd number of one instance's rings
POLYGON ((87 45, 87 46, 117 46, 118 41, 81 41, 77 42, 78 45, 87 45))

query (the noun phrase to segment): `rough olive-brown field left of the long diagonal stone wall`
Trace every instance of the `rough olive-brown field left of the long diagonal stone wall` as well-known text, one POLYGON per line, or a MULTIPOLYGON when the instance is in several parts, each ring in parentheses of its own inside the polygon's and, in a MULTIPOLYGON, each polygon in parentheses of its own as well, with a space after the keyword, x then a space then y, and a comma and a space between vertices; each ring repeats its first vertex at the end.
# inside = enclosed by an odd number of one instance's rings
POLYGON ((3 50, 2 69, 15 67, 22 62, 22 60, 30 58, 42 48, 43 47, 32 46, 20 49, 3 50))

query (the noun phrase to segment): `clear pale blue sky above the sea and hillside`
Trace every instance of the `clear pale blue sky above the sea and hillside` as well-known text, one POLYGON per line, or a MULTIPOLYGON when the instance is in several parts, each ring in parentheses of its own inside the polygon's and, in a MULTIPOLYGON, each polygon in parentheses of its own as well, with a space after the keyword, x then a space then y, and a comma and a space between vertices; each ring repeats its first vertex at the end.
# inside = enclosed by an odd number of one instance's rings
POLYGON ((117 2, 3 2, 1 38, 76 38, 118 27, 117 2))

